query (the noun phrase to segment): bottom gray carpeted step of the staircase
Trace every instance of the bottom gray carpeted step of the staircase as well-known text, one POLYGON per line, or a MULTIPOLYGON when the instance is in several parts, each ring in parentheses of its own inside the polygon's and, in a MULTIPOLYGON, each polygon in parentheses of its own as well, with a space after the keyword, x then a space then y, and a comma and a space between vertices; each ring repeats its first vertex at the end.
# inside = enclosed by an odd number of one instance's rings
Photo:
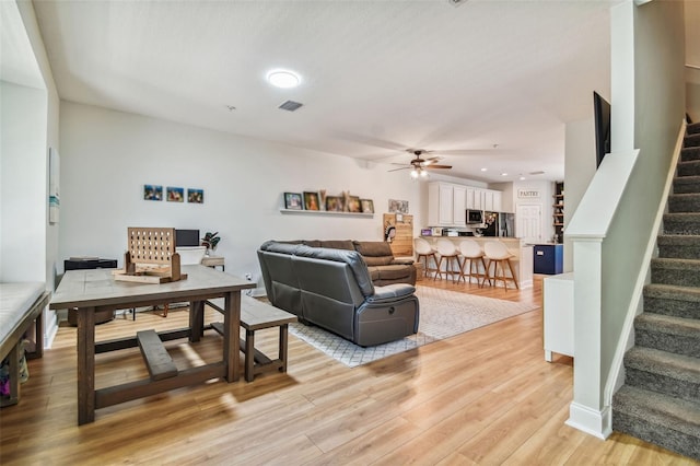
POLYGON ((700 405, 622 386, 612 398, 612 429, 700 461, 700 405))

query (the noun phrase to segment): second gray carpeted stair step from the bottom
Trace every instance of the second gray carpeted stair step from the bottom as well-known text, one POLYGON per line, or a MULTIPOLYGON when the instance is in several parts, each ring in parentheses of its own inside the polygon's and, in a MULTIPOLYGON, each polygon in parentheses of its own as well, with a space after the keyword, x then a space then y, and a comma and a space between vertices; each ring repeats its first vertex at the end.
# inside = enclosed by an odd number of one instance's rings
POLYGON ((700 359, 633 347, 625 353, 625 384, 698 401, 700 359))

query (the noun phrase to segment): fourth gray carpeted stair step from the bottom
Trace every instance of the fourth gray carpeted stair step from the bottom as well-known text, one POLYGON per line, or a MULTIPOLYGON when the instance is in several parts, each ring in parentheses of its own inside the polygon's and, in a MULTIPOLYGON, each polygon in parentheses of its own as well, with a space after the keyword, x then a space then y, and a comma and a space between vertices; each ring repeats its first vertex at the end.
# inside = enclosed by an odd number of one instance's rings
POLYGON ((700 289, 652 283, 644 287, 644 312, 700 318, 700 289))

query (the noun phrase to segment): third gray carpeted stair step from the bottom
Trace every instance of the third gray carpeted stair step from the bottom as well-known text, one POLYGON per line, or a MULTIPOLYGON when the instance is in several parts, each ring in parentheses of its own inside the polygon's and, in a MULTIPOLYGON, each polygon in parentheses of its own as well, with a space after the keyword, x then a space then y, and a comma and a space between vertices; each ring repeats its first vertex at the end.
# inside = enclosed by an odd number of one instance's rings
POLYGON ((700 319, 644 312, 634 319, 634 345, 700 358, 700 319))

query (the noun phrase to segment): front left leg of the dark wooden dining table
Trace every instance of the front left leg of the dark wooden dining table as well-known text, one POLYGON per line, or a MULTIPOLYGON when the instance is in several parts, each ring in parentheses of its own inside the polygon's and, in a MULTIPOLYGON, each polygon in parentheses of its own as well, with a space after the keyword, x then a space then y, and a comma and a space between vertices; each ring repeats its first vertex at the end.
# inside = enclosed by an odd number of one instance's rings
POLYGON ((78 424, 95 420, 95 308, 78 310, 78 424))

